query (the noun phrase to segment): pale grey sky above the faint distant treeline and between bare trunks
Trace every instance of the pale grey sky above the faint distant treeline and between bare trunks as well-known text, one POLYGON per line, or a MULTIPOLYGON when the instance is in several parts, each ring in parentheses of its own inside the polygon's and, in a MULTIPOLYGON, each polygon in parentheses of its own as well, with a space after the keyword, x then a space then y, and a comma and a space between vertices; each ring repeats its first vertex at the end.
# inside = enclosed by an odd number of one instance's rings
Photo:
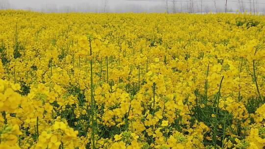
MULTIPOLYGON (((1 1, 1 0, 0 0, 1 1)), ((98 9, 102 9, 103 7, 103 1, 104 0, 8 0, 11 4, 11 7, 13 8, 34 8, 34 9, 44 9, 45 7, 49 7, 51 5, 55 6, 56 8, 64 7, 64 6, 70 6, 70 7, 78 7, 78 5, 82 4, 89 4, 90 6, 94 5, 95 7, 98 7, 98 9)), ((122 9, 127 9, 127 7, 135 6, 142 7, 142 8, 150 8, 154 7, 160 7, 160 9, 165 9, 165 2, 158 1, 128 1, 128 0, 107 0, 108 1, 108 9, 111 11, 115 11, 115 8, 122 7, 122 9)), ((172 0, 169 0, 168 5, 169 7, 172 7, 172 0)), ((180 1, 180 0, 176 0, 180 1)), ((185 7, 185 4, 187 3, 187 0, 182 0, 183 7, 185 7)), ((194 9, 200 9, 201 2, 200 0, 193 0, 194 2, 194 9)), ((239 9, 239 4, 236 2, 238 0, 228 0, 228 8, 237 10, 239 9)), ((249 0, 243 0, 245 2, 249 2, 249 0)), ((253 1, 253 0, 251 0, 253 1)), ((255 0, 257 2, 265 3, 265 0, 255 0)), ((216 0, 216 5, 220 9, 224 8, 225 0, 216 0)), ((204 8, 207 7, 210 11, 215 10, 215 7, 213 5, 213 0, 207 0, 207 2, 203 2, 204 8)), ((176 2, 176 7, 180 8, 180 2, 176 2)), ((245 9, 249 9, 249 3, 244 3, 245 9)), ((265 4, 257 4, 257 9, 260 9, 260 11, 263 11, 265 8, 265 4)), ((185 7, 186 8, 186 7, 185 7)), ((184 9, 185 9, 184 8, 184 9)), ((129 9, 130 11, 131 9, 129 9)))

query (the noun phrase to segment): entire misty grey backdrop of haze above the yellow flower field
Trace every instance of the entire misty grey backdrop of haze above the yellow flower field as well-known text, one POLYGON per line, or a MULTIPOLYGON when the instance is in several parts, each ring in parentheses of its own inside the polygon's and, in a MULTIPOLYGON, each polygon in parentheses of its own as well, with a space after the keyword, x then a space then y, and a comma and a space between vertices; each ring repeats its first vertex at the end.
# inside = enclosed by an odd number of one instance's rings
MULTIPOLYGON (((0 0, 0 9, 26 9, 43 12, 224 12, 225 0, 0 0), (180 2, 182 1, 182 2, 180 2), (192 1, 192 2, 190 2, 192 1), (215 2, 214 2, 215 1, 215 2)), ((265 0, 228 0, 227 11, 265 12, 265 0), (254 5, 253 5, 254 1, 254 5)))

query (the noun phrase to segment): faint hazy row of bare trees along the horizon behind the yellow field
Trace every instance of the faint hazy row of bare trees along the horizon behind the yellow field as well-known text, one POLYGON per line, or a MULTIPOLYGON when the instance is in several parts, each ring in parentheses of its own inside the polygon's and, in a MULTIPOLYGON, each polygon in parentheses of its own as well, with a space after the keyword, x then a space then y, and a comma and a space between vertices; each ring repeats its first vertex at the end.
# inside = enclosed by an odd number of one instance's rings
MULTIPOLYGON (((257 0, 164 0, 161 4, 151 4, 149 6, 141 5, 140 2, 147 0, 138 0, 138 4, 132 3, 133 0, 127 0, 127 4, 113 5, 112 0, 101 0, 100 4, 79 3, 75 5, 58 6, 54 3, 46 3, 39 8, 24 7, 16 8, 9 0, 0 0, 0 9, 25 9, 40 12, 167 12, 167 13, 208 13, 208 12, 265 12, 265 3, 259 3, 257 0)), ((148 1, 150 3, 154 1, 148 1)))

